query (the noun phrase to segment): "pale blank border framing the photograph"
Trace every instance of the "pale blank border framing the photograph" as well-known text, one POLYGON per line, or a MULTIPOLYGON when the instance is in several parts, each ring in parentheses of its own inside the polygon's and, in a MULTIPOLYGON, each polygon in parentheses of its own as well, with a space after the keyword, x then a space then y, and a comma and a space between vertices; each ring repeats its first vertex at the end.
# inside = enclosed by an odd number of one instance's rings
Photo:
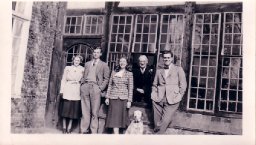
MULTIPOLYGON (((82 1, 82 0, 81 0, 82 1)), ((95 1, 95 0, 94 0, 95 1)), ((123 1, 123 0, 122 0, 123 1)), ((130 0, 131 1, 131 0, 130 0)), ((164 1, 164 0, 162 0, 164 1)), ((169 0, 170 1, 170 0, 169 0)), ((168 2, 169 2, 168 1, 168 2)), ((174 1, 177 2, 178 0, 174 1)), ((77 1, 79 2, 79 1, 77 1)), ((146 2, 146 1, 145 1, 146 2)), ((224 1, 197 0, 223 3, 224 1)), ((0 145, 254 145, 255 144, 255 0, 243 2, 243 135, 62 135, 11 134, 11 1, 1 2, 0 9, 0 145)))

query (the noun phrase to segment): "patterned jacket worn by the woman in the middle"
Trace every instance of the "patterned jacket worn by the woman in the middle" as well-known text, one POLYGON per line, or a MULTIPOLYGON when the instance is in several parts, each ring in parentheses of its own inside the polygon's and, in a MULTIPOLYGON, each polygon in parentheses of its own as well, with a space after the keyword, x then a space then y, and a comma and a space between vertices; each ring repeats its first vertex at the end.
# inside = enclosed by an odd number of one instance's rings
POLYGON ((132 102, 133 95, 133 74, 125 71, 122 77, 115 76, 117 72, 113 71, 109 80, 106 98, 121 100, 127 99, 132 102))

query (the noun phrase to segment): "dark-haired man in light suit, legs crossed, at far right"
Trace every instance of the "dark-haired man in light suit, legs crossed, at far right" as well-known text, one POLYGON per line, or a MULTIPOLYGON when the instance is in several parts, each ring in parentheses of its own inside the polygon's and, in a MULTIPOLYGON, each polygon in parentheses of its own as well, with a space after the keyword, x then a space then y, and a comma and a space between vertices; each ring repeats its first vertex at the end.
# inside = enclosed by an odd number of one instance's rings
POLYGON ((165 133, 187 88, 185 73, 173 64, 171 51, 163 52, 163 61, 164 69, 156 71, 151 93, 156 134, 165 133))

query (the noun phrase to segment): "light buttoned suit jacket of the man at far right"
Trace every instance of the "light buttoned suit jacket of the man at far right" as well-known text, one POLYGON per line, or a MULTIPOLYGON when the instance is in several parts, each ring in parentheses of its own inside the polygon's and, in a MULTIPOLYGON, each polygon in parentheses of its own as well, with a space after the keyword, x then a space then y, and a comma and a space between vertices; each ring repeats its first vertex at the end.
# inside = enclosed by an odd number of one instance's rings
POLYGON ((181 101, 186 88, 187 81, 182 67, 172 65, 166 78, 164 69, 158 69, 152 86, 151 99, 160 102, 166 95, 168 103, 175 104, 181 101))

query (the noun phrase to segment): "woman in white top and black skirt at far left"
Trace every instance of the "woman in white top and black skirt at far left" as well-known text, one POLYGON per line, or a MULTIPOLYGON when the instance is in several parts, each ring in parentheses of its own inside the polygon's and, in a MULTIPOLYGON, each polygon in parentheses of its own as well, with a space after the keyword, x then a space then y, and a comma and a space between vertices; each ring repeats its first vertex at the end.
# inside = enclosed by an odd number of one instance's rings
POLYGON ((60 95, 63 101, 60 105, 59 115, 62 117, 62 132, 64 134, 71 133, 73 119, 80 119, 82 116, 80 97, 80 80, 84 72, 84 67, 80 66, 82 60, 81 56, 74 56, 73 65, 65 67, 61 80, 60 95))

